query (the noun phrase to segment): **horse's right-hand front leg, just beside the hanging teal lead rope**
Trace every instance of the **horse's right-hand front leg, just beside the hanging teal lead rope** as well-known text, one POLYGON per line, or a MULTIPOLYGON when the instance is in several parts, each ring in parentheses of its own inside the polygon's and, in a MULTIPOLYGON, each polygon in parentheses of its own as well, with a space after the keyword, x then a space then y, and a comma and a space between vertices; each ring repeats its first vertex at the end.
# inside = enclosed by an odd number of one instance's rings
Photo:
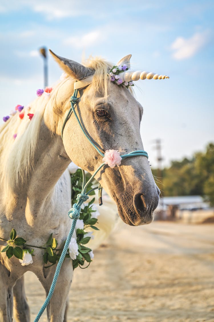
MULTIPOLYGON (((51 288, 51 283, 53 276, 56 270, 56 266, 48 268, 50 270, 46 278, 44 276, 38 276, 42 286, 46 291, 46 296, 51 288)), ((67 313, 67 301, 68 293, 70 290, 70 284, 73 277, 73 267, 72 262, 69 259, 66 259, 62 264, 60 275, 58 277, 52 298, 50 303, 47 306, 47 316, 49 322, 66 322, 66 313, 67 313)))

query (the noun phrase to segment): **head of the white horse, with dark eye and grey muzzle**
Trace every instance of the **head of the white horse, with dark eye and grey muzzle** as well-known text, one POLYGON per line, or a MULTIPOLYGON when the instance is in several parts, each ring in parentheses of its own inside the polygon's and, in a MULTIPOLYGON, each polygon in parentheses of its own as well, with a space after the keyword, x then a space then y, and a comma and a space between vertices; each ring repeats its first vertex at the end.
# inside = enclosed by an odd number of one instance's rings
MULTIPOLYGON (((143 107, 128 88, 110 81, 112 64, 97 59, 84 66, 51 53, 68 78, 72 79, 72 86, 75 80, 83 80, 76 113, 91 141, 103 153, 109 149, 118 150, 120 155, 144 150, 140 135, 143 107), (84 83, 90 76, 93 76, 93 80, 89 84, 84 83)), ((124 57, 117 65, 126 64, 129 67, 130 57, 124 57)), ((64 118, 68 109, 67 105, 64 118)), ((84 136, 74 115, 65 124, 63 144, 70 159, 91 174, 103 162, 102 156, 84 136)), ((121 165, 114 168, 104 166, 96 179, 116 202, 118 213, 125 223, 137 226, 153 220, 160 191, 145 156, 123 159, 121 165)))

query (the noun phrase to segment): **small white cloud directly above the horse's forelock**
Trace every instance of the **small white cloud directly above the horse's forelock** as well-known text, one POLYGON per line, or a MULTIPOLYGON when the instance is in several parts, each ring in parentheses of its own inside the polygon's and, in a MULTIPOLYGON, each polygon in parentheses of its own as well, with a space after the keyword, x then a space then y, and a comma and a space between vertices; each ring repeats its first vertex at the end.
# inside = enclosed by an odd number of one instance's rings
POLYGON ((65 45, 72 45, 76 48, 86 48, 103 40, 104 38, 101 35, 101 31, 94 30, 82 36, 69 37, 65 39, 63 43, 65 45))

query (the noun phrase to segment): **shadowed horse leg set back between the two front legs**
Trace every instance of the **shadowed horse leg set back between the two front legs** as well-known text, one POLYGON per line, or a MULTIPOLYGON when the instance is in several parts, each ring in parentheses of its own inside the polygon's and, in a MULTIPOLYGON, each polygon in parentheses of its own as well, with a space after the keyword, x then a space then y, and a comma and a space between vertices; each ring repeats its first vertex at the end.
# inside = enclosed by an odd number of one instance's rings
POLYGON ((14 285, 14 317, 17 322, 30 321, 30 309, 24 291, 24 276, 14 285))

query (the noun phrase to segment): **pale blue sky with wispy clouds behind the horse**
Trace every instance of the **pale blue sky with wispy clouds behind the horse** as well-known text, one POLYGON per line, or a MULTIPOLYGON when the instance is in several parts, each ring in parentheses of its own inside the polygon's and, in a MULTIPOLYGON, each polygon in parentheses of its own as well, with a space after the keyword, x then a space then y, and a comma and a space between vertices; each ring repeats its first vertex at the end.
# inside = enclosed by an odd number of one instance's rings
MULTIPOLYGON (((214 141, 213 1, 27 1, 0 4, 0 111, 26 105, 43 87, 42 46, 81 62, 102 56, 116 63, 131 53, 132 68, 169 75, 138 81, 144 107, 141 134, 156 166, 191 156, 214 141)), ((61 70, 48 57, 49 84, 61 70)))

